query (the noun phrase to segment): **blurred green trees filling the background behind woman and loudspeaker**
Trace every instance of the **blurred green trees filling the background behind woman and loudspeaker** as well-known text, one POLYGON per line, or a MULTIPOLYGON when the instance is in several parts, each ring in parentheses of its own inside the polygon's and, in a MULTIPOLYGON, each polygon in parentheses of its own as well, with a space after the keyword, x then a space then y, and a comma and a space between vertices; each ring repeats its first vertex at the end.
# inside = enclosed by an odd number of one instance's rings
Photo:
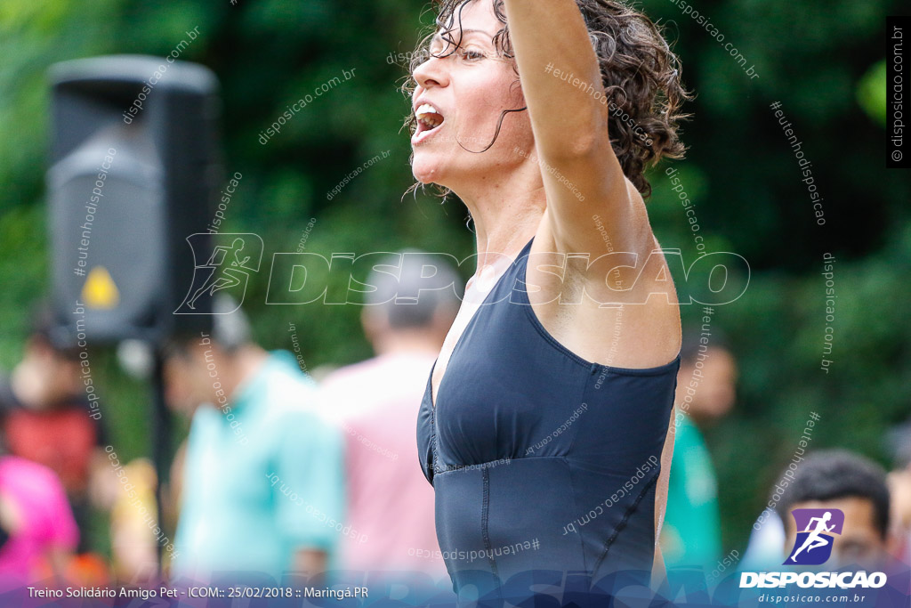
MULTIPOLYGON (((641 7, 666 28, 696 94, 683 128, 687 159, 673 163, 713 252, 751 265, 749 288, 715 309, 741 381, 732 416, 708 433, 722 506, 725 550, 745 544, 769 488, 793 457, 809 412, 814 448, 853 448, 889 464, 886 428, 908 417, 911 330, 902 302, 911 253, 911 180, 885 170, 885 15, 898 0, 704 0, 693 3, 754 66, 750 78, 669 0, 641 7), (812 202, 771 103, 793 123, 824 197, 812 202), (904 202, 903 202, 904 201, 904 202), (834 360, 824 346, 822 256, 835 256, 838 296, 834 360)), ((0 370, 15 365, 36 303, 48 291, 44 171, 48 142, 46 68, 106 54, 164 57, 199 27, 181 59, 212 68, 224 100, 226 174, 243 174, 221 232, 256 232, 272 252, 297 251, 315 218, 308 252, 418 247, 462 259, 474 250, 461 203, 418 193, 402 130, 409 104, 398 90, 399 54, 433 23, 423 0, 4 0, 0 3, 0 370), (356 77, 290 120, 266 145, 259 134, 294 101, 356 69, 356 77), (363 162, 389 150, 332 201, 326 193, 363 162)), ((650 214, 666 248, 696 255, 690 224, 662 165, 651 172, 650 214)), ((136 230, 141 230, 136 227, 136 230)), ((463 269, 466 271, 468 269, 463 269)), ((470 271, 469 271, 470 272, 470 271)), ((265 308, 267 273, 246 303, 256 335, 292 347, 297 325, 307 366, 370 355, 358 306, 265 308)), ((681 280, 681 277, 678 277, 681 280)), ((684 306, 685 325, 698 310, 684 306)), ((148 453, 142 383, 104 365, 107 423, 124 458, 148 453)))

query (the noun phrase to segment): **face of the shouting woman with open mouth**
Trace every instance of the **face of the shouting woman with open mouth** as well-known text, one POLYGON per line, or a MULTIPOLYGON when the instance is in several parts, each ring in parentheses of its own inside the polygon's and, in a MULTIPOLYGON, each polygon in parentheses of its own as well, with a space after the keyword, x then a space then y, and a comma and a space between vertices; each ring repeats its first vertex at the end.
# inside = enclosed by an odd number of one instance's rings
POLYGON ((503 26, 494 15, 493 1, 473 0, 461 15, 459 20, 456 9, 450 32, 459 46, 438 34, 431 57, 412 75, 417 85, 412 111, 418 126, 411 139, 415 179, 455 191, 466 179, 483 179, 485 173, 521 164, 521 154, 530 153, 534 145, 527 112, 510 112, 490 149, 468 151, 490 145, 503 110, 522 108, 525 102, 512 60, 500 57, 493 43, 503 26))

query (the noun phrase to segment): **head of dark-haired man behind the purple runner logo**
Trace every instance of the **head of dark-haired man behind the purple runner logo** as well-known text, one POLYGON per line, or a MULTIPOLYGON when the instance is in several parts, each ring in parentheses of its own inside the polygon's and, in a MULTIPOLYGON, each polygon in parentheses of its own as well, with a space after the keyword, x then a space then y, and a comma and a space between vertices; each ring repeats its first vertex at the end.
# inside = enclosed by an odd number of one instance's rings
MULTIPOLYGON (((795 509, 844 513, 844 529, 833 534, 831 564, 874 565, 889 544, 889 490, 885 470, 844 449, 824 449, 804 459, 775 508, 784 522, 786 556, 797 551, 795 509)), ((828 527, 827 527, 828 528, 828 527)))

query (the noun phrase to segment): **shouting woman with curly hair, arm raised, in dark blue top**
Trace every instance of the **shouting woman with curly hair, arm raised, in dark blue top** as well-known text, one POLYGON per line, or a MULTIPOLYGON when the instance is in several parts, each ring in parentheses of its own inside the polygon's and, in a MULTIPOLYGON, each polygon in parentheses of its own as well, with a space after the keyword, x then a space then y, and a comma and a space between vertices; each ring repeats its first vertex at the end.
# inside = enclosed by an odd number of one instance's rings
POLYGON ((642 195, 682 154, 677 59, 619 2, 438 4, 412 169, 478 252, 418 419, 455 591, 657 570, 681 329, 642 195))

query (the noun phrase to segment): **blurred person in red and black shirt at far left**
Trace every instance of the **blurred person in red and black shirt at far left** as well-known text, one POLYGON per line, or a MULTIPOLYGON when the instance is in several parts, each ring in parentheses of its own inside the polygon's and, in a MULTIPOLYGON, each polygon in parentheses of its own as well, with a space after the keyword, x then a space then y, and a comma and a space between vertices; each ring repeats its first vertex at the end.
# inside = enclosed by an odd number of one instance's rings
POLYGON ((79 551, 87 550, 91 489, 105 467, 100 399, 87 362, 87 352, 58 334, 42 308, 22 360, 8 381, 0 379, 8 451, 61 480, 81 531, 79 551))

